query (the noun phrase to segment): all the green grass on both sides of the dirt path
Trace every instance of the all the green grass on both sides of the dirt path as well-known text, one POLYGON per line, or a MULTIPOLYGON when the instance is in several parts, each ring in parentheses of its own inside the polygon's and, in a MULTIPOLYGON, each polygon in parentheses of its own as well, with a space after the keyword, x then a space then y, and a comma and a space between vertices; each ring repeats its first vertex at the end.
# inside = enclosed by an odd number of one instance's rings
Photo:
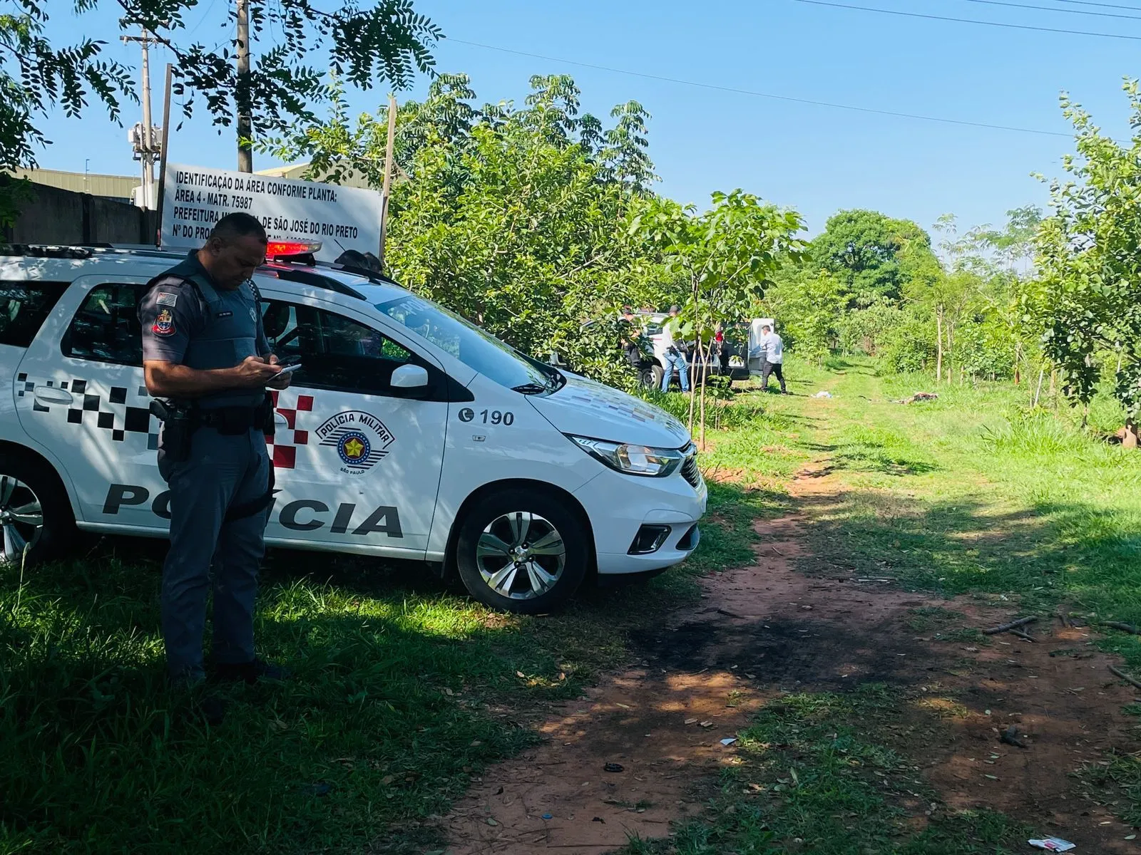
MULTIPOLYGON (((1028 413, 1025 386, 939 386, 939 400, 903 406, 892 401, 930 381, 837 358, 793 359, 787 374, 794 396, 745 386, 707 404, 702 547, 648 585, 515 618, 416 567, 272 555, 259 644, 297 679, 229 690, 213 730, 162 683, 156 546, 110 540, 23 579, 0 570, 0 855, 439 850, 436 817, 535 740, 545 705, 624 662, 628 634, 693 601, 696 576, 751 563, 754 521, 794 506, 830 572, 1003 597, 1011 613, 1141 622, 1141 457, 1099 439, 1112 405, 1091 408, 1097 427, 1083 431, 1079 415, 1028 413), (835 397, 809 397, 820 389, 835 397), (808 462, 827 463, 842 492, 791 502, 788 479, 808 462)), ((907 620, 985 643, 942 609, 907 620)), ((1103 645, 1141 671, 1138 637, 1103 645)), ((628 855, 1006 852, 1008 819, 948 812, 916 783, 912 742, 891 728, 945 725, 908 710, 874 686, 780 698, 742 734, 744 762, 709 793, 705 821, 628 855)), ((1133 758, 1109 763, 1083 779, 1134 817, 1141 772, 1133 758)))

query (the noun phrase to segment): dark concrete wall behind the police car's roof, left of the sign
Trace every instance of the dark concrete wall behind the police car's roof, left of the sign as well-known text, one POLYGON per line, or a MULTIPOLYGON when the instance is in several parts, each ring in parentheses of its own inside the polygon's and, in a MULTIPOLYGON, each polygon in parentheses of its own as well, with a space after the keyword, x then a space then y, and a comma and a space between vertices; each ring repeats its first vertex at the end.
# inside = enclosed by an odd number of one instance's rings
POLYGON ((154 244, 155 211, 33 184, 3 242, 15 244, 154 244))

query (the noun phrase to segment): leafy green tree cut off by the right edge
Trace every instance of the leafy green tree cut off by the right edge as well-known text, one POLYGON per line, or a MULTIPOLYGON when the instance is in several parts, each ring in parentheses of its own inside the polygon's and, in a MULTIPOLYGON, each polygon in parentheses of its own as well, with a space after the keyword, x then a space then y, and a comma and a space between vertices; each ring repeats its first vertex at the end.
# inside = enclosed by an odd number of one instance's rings
POLYGON ((1044 350, 1066 394, 1089 404, 1102 366, 1116 363, 1115 393, 1136 445, 1141 414, 1141 95, 1126 80, 1133 139, 1101 132, 1068 97, 1077 155, 1063 160, 1071 179, 1050 182, 1052 214, 1037 237, 1037 309, 1044 350))

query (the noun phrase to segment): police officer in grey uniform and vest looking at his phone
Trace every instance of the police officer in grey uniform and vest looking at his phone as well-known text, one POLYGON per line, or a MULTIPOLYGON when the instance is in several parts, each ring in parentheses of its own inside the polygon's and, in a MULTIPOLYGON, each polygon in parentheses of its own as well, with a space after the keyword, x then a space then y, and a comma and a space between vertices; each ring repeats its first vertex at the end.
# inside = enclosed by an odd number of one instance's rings
MULTIPOLYGON (((254 657, 253 602, 273 499, 266 388, 289 374, 269 352, 251 277, 266 258, 257 219, 218 220, 205 246, 148 283, 139 304, 146 388, 163 417, 159 472, 170 486, 162 636, 176 684, 204 676, 202 637, 213 569, 211 665, 221 681, 284 671, 254 657)), ((209 712, 208 712, 209 715, 209 712)))

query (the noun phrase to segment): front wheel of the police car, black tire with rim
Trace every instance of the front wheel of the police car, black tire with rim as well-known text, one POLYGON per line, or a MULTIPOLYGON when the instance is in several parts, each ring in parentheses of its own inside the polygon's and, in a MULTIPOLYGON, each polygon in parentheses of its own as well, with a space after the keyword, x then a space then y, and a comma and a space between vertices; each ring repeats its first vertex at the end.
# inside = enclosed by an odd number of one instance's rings
POLYGON ((541 614, 567 604, 586 576, 590 532, 565 502, 505 489, 472 503, 455 563, 468 593, 493 609, 541 614))

